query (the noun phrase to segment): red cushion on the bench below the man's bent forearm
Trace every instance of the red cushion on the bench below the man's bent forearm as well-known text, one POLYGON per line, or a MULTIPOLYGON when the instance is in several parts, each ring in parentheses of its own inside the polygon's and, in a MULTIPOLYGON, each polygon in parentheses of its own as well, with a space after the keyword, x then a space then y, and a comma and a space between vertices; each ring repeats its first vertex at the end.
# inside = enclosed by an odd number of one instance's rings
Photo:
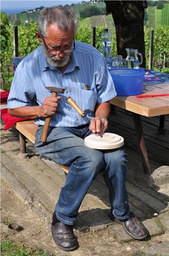
POLYGON ((4 131, 8 130, 11 126, 16 124, 17 122, 31 120, 28 118, 16 118, 16 116, 11 116, 10 114, 8 114, 7 108, 1 110, 1 116, 5 123, 4 131))

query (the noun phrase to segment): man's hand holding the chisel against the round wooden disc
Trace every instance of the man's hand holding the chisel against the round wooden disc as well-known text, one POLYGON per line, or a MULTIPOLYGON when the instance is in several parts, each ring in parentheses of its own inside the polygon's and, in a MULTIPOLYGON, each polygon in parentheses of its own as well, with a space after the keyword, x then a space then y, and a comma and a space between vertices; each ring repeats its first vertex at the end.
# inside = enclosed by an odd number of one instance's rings
POLYGON ((92 133, 101 133, 103 134, 104 131, 107 129, 108 122, 104 118, 92 118, 90 121, 89 130, 92 133))

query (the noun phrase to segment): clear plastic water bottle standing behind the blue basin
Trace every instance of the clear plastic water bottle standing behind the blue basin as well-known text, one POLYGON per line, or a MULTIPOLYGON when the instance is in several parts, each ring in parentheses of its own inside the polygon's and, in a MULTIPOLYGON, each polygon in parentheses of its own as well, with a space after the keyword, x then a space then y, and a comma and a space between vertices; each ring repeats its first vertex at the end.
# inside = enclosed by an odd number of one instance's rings
POLYGON ((106 61, 107 68, 112 68, 112 50, 111 50, 112 35, 108 33, 108 28, 104 29, 102 35, 102 52, 106 61))

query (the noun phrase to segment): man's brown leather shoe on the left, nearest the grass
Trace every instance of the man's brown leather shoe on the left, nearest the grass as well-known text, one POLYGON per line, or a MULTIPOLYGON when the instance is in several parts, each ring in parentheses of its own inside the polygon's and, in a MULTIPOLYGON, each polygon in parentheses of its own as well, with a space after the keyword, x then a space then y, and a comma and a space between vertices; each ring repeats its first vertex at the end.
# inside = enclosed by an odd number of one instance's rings
POLYGON ((62 222, 52 223, 52 236, 56 245, 64 251, 74 251, 79 247, 73 226, 62 222))

